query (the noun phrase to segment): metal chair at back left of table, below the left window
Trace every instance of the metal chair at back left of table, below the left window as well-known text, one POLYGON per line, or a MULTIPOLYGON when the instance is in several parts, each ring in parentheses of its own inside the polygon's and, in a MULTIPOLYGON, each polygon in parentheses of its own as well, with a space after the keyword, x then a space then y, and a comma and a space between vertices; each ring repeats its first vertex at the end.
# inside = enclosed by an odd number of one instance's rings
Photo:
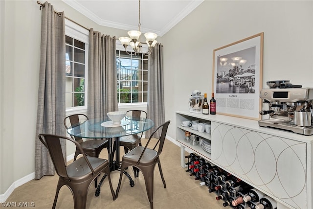
MULTIPOLYGON (((88 120, 88 116, 84 114, 74 114, 71 116, 67 116, 64 118, 64 125, 66 129, 71 127, 78 126, 80 123, 85 122, 88 120)), ((98 158, 100 152, 103 148, 107 148, 109 152, 109 141, 108 139, 86 139, 85 141, 80 137, 73 137, 70 136, 72 139, 76 140, 84 150, 85 154, 90 157, 98 158)), ((76 147, 74 161, 76 161, 77 156, 81 154, 81 151, 76 147)), ((97 178, 94 180, 94 187, 97 187, 97 178)))

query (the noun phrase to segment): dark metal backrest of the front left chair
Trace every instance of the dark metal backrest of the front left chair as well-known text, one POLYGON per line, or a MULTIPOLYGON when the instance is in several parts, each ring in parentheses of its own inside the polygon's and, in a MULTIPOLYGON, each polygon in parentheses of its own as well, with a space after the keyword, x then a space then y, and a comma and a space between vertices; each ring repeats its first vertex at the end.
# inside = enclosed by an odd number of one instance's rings
POLYGON ((84 156, 86 163, 89 165, 89 168, 91 169, 92 173, 94 173, 92 166, 90 165, 82 147, 77 141, 67 138, 67 137, 61 137, 61 136, 52 135, 52 134, 40 134, 38 135, 38 138, 48 149, 54 168, 59 176, 66 178, 66 179, 70 179, 67 175, 67 170, 66 170, 67 165, 65 164, 62 147, 61 147, 61 140, 64 140, 64 139, 69 140, 76 145, 76 147, 80 150, 80 152, 84 156))

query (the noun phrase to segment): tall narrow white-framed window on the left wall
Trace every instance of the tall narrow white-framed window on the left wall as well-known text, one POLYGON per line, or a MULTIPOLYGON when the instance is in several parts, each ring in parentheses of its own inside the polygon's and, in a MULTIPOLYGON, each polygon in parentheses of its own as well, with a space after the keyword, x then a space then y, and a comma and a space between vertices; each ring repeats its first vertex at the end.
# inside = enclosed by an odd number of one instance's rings
POLYGON ((66 110, 87 109, 88 38, 86 29, 66 22, 66 110))

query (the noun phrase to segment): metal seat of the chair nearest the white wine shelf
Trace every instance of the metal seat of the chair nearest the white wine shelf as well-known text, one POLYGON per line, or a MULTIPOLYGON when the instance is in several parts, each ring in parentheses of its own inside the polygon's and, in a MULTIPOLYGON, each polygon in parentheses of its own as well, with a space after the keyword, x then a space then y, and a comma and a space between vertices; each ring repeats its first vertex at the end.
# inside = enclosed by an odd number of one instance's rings
MULTIPOLYGON (((130 152, 125 154, 123 156, 122 161, 127 162, 127 163, 132 162, 132 163, 136 164, 140 158, 140 155, 141 155, 143 149, 144 149, 144 147, 137 146, 136 148, 132 149, 130 152)), ((154 164, 156 156, 157 156, 156 150, 146 148, 146 150, 143 153, 143 156, 140 160, 140 165, 154 164)))

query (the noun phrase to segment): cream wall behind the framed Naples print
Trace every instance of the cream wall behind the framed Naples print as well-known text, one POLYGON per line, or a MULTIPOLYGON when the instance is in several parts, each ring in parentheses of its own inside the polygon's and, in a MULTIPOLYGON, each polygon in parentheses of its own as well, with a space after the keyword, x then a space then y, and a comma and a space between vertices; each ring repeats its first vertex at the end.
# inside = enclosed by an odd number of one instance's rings
POLYGON ((212 92, 213 50, 264 32, 263 87, 291 80, 313 87, 313 1, 205 0, 163 38, 165 116, 175 139, 175 111, 193 90, 212 92))

